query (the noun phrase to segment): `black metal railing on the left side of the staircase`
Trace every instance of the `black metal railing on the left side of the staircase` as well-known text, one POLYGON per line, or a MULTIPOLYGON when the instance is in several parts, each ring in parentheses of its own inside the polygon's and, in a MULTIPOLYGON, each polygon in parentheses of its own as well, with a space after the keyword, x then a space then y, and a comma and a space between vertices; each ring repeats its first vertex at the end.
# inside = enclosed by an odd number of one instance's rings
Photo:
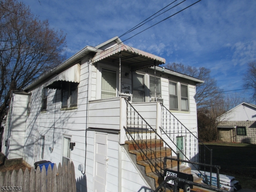
MULTIPOLYGON (((134 141, 137 147, 135 149, 139 149, 140 152, 143 153, 143 155, 146 157, 148 162, 153 166, 153 172, 156 171, 163 177, 163 171, 164 169, 164 162, 162 162, 162 159, 167 156, 167 148, 170 148, 172 153, 174 153, 177 157, 179 157, 179 154, 174 151, 168 143, 164 141, 164 139, 156 132, 155 129, 153 129, 147 121, 139 114, 139 112, 132 106, 132 104, 124 98, 127 104, 126 113, 127 113, 127 121, 126 121, 126 128, 124 127, 124 130, 126 133, 128 133, 129 137, 134 141), (145 136, 143 138, 143 133, 145 133, 145 136), (160 165, 157 163, 157 154, 156 154, 156 146, 157 141, 156 139, 160 140, 160 151, 157 151, 157 153, 160 152, 160 165), (164 143, 164 147, 161 146, 161 143, 164 143), (148 146, 149 143, 149 146, 148 146), (154 157, 154 158, 152 158, 154 157)), ((169 150, 170 150, 169 149, 169 150)), ((172 168, 172 161, 171 160, 171 168, 172 168)), ((177 158, 178 161, 178 158, 177 158)), ((179 169, 179 161, 178 161, 178 169, 179 169)))

